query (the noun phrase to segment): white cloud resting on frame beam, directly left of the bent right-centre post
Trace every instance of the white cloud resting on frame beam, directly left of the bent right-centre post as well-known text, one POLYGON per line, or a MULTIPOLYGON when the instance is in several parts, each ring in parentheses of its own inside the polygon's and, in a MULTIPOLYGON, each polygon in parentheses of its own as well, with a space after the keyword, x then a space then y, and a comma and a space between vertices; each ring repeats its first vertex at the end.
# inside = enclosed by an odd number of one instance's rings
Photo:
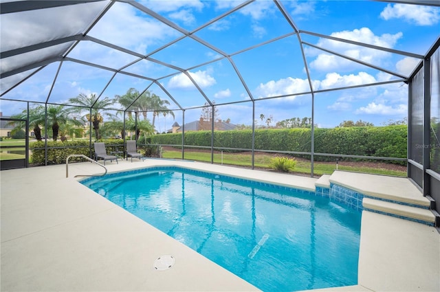
POLYGON ((278 81, 270 80, 265 84, 261 83, 256 89, 257 98, 287 96, 306 91, 310 91, 309 82, 304 79, 292 77, 283 78, 278 81))

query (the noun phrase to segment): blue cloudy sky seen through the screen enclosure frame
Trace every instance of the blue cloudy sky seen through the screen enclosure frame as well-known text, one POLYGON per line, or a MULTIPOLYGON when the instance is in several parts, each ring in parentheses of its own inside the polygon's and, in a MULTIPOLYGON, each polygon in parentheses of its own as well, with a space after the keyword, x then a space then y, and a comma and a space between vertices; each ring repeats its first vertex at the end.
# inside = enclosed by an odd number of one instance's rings
MULTIPOLYGON (((193 0, 139 1, 139 3, 183 30, 194 32, 201 25, 243 2, 193 0)), ((373 1, 281 1, 281 3, 296 27, 302 31, 300 39, 304 42, 303 52, 314 90, 364 85, 400 78, 329 54, 311 45, 324 47, 331 52, 338 52, 401 76, 411 74, 419 59, 330 41, 305 32, 315 32, 419 55, 425 54, 440 35, 438 7, 373 1)), ((25 12, 26 16, 3 14, 1 52, 21 45, 38 43, 41 40, 49 41, 82 32, 82 25, 93 19, 94 13, 99 12, 103 4, 105 3, 89 5, 91 7, 87 8, 87 12, 84 9, 85 5, 74 5, 67 9, 47 9, 46 12, 25 12), (41 22, 43 25, 36 25, 41 22)), ((196 39, 183 38, 181 32, 157 21, 132 5, 116 2, 88 35, 138 54, 154 53, 150 57, 159 62, 184 70, 189 69, 188 74, 209 100, 214 100, 216 104, 225 104, 217 107, 221 119, 229 118, 234 124, 250 125, 252 102, 236 104, 230 102, 249 101, 251 95, 256 100, 255 115, 259 124, 263 124, 259 120, 260 114, 272 117, 273 124, 291 117, 311 117, 311 95, 299 94, 309 92, 310 84, 298 36, 292 34, 293 32, 292 26, 287 23, 273 1, 255 1, 244 5, 243 8, 219 21, 194 32, 196 39), (283 38, 278 41, 261 45, 281 36, 283 38), (173 45, 155 52, 156 49, 179 38, 181 40, 173 45), (224 58, 220 52, 230 56, 230 59, 224 58), (212 62, 212 60, 217 61, 212 62), (206 65, 199 66, 203 63, 206 65), (260 100, 274 96, 284 97, 260 100)), ((45 54, 53 54, 56 49, 62 50, 66 45, 40 50, 41 52, 34 55, 28 54, 36 60, 44 60, 45 54)), ((137 60, 135 56, 91 41, 81 42, 68 57, 114 69, 120 69, 137 60)), ((2 72, 8 71, 10 69, 8 66, 14 69, 17 59, 13 58, 2 60, 2 72)), ((185 122, 198 120, 201 115, 201 109, 188 108, 201 106, 206 102, 205 96, 188 76, 148 60, 126 67, 124 71, 153 79, 158 78, 160 85, 173 98, 148 80, 124 74, 117 74, 111 79, 112 72, 71 61, 63 62, 54 88, 50 91, 59 65, 58 62, 48 65, 1 98, 43 102, 49 97, 50 102, 63 104, 79 93, 97 95, 102 93, 102 96, 113 98, 115 95, 123 95, 131 87, 139 91, 148 87, 148 91, 168 100, 171 104, 168 106, 170 109, 179 109, 179 106, 186 108, 185 122), (168 77, 162 78, 164 76, 168 77), (110 80, 109 86, 103 91, 110 80), (179 105, 175 104, 173 99, 179 105)), ((25 73, 29 74, 30 71, 25 73)), ((8 89, 13 82, 12 77, 3 78, 1 92, 8 89)), ((407 92, 408 86, 404 82, 396 82, 389 85, 316 93, 315 124, 319 127, 333 127, 344 120, 364 120, 380 126, 388 120, 403 120, 408 111, 407 92)), ((3 115, 17 113, 24 108, 25 104, 1 100, 3 115)), ((170 128, 174 121, 182 123, 181 111, 175 111, 175 120, 172 117, 159 117, 156 128, 164 131, 170 128)))

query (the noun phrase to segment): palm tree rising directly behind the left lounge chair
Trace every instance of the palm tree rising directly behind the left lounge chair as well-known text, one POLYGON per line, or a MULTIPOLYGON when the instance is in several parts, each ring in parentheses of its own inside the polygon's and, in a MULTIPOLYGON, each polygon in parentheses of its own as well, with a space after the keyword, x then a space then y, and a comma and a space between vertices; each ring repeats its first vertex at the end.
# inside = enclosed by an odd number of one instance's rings
POLYGON ((102 109, 106 109, 108 106, 111 106, 114 103, 114 100, 111 100, 108 97, 103 98, 102 100, 96 100, 96 95, 94 93, 91 93, 89 96, 86 96, 84 93, 80 93, 80 95, 76 98, 70 98, 69 102, 71 104, 83 106, 83 108, 79 108, 77 110, 80 113, 84 111, 84 107, 91 109, 91 115, 90 113, 87 113, 85 117, 94 126, 95 138, 97 140, 101 139, 99 133, 99 124, 104 122, 104 117, 102 117, 102 115, 105 114, 109 117, 113 116, 111 113, 105 113, 102 111, 102 109))

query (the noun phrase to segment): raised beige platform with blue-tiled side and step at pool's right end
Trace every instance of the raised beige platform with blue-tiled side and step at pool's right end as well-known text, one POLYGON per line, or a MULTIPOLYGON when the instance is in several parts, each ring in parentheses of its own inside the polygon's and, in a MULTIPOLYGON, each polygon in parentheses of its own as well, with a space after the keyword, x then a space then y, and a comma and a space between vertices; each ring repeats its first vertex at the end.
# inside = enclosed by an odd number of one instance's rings
POLYGON ((356 210, 440 226, 435 201, 405 178, 336 171, 315 182, 315 193, 356 210))

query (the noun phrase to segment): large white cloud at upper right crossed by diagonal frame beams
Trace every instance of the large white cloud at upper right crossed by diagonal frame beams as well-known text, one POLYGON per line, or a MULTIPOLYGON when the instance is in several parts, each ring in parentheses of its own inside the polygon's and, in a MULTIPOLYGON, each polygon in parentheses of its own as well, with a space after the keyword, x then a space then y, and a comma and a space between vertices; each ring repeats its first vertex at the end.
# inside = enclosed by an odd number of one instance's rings
MULTIPOLYGON (((397 34, 382 34, 381 36, 376 36, 368 27, 362 27, 359 30, 356 29, 352 31, 345 30, 342 32, 333 32, 331 34, 331 36, 337 38, 344 38, 351 41, 358 41, 360 43, 368 43, 371 45, 388 48, 394 47, 402 35, 403 34, 401 32, 398 32, 397 34)), ((326 38, 320 39, 317 45, 345 56, 362 60, 366 63, 373 63, 375 65, 381 65, 382 61, 390 56, 390 53, 388 52, 369 49, 368 47, 351 45, 349 43, 332 41, 326 38)), ((340 58, 332 54, 321 54, 319 53, 320 51, 316 49, 308 49, 306 52, 309 56, 317 55, 316 59, 310 63, 311 69, 315 69, 317 71, 341 71, 344 69, 353 69, 353 65, 355 67, 361 66, 351 62, 350 60, 340 58)))

